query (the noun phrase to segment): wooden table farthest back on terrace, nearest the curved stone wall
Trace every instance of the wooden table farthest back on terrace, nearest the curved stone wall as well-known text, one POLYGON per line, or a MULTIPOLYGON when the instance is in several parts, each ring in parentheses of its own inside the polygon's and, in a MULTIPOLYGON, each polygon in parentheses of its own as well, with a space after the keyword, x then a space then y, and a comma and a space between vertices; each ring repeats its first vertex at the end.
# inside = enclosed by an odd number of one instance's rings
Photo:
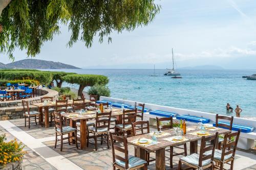
MULTIPOLYGON (((89 100, 84 100, 84 103, 90 103, 91 101, 89 100)), ((76 102, 76 103, 82 103, 82 102, 76 102)), ((65 104, 65 103, 63 103, 65 104)), ((49 108, 50 107, 55 107, 56 103, 55 102, 47 102, 47 104, 44 103, 33 103, 32 105, 37 106, 39 108, 39 112, 42 114, 44 114, 42 112, 42 108, 45 108, 45 127, 49 128, 49 108)), ((72 100, 68 100, 68 105, 73 105, 73 101, 72 100)), ((41 116, 41 122, 43 122, 43 116, 41 116)))

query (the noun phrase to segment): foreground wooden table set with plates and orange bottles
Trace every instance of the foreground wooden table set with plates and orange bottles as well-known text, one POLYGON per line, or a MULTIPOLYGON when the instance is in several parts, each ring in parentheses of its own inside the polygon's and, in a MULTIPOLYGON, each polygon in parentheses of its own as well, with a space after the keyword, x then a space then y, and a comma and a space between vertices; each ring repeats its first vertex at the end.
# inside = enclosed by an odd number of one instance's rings
MULTIPOLYGON (((157 141, 159 143, 149 145, 149 146, 146 146, 146 147, 142 147, 141 145, 136 144, 132 141, 134 141, 136 139, 139 139, 139 138, 151 139, 152 136, 150 136, 148 134, 129 137, 129 138, 127 138, 127 141, 128 141, 129 144, 132 144, 132 145, 136 146, 138 157, 141 158, 141 159, 146 160, 145 151, 147 151, 147 152, 156 152, 156 169, 157 170, 164 170, 165 169, 165 148, 170 147, 170 146, 175 147, 175 146, 184 144, 186 142, 190 142, 190 154, 197 153, 198 140, 200 140, 201 137, 199 137, 197 135, 192 135, 192 134, 189 134, 189 133, 197 132, 199 130, 197 129, 197 126, 188 126, 188 127, 191 128, 191 129, 194 129, 194 130, 191 130, 191 131, 187 131, 187 134, 183 135, 184 137, 188 138, 189 140, 178 142, 178 143, 163 140, 164 138, 175 136, 175 131, 174 130, 165 130, 164 132, 167 132, 170 135, 158 137, 157 141)), ((214 130, 214 131, 207 130, 207 131, 212 133, 212 134, 215 134, 217 131, 219 132, 219 134, 226 134, 226 133, 230 132, 229 130, 226 130, 226 129, 219 129, 219 130, 214 130)))

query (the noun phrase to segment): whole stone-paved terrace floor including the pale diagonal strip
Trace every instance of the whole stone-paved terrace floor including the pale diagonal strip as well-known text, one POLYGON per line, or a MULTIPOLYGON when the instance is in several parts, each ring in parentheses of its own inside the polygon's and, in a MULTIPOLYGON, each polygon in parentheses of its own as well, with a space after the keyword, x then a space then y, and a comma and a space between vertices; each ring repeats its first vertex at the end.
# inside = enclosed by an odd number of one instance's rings
MULTIPOLYGON (((6 133, 8 140, 17 138, 26 144, 28 153, 24 158, 24 169, 112 169, 112 151, 107 149, 106 144, 98 144, 98 151, 94 150, 92 144, 89 144, 86 150, 65 144, 63 151, 60 152, 59 145, 54 149, 53 127, 32 126, 28 129, 24 125, 24 119, 0 121, 0 134, 6 133)), ((132 145, 129 146, 129 153, 134 154, 132 145)), ((151 155, 155 156, 154 153, 151 155)), ((168 155, 169 153, 166 152, 166 165, 167 169, 171 169, 168 168, 168 155)), ((174 157, 173 169, 177 169, 180 157, 174 157)), ((155 169, 154 162, 151 162, 148 169, 155 169)), ((234 169, 256 169, 256 152, 238 150, 234 169)))

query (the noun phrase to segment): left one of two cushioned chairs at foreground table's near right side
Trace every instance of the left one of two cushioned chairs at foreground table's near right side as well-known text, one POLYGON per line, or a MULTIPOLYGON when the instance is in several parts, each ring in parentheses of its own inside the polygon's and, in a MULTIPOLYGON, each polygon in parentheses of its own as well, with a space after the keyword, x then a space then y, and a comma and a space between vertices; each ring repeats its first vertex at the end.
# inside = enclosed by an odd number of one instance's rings
MULTIPOLYGON (((202 136, 201 146, 200 146, 200 154, 191 154, 185 157, 180 158, 178 170, 183 169, 182 163, 187 165, 189 168, 193 169, 206 169, 206 168, 214 168, 214 153, 216 147, 216 141, 218 138, 218 132, 215 135, 211 135, 208 137, 202 136), (210 142, 212 144, 206 146, 206 142, 210 142), (205 155, 206 152, 209 152, 209 155, 205 155)), ((184 169, 188 169, 185 167, 184 169)))

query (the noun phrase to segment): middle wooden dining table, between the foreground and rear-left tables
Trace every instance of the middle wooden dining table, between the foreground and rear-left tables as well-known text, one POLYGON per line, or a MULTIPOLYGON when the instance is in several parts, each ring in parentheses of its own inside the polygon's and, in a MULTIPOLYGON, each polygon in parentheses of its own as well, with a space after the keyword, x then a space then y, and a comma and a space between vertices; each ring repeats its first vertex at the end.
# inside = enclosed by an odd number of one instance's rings
MULTIPOLYGON (((117 122, 118 124, 121 123, 122 120, 122 114, 123 111, 122 109, 116 109, 114 108, 112 110, 111 116, 116 116, 117 117, 117 122)), ((83 113, 82 115, 79 115, 78 113, 64 113, 61 114, 61 116, 69 118, 70 121, 70 126, 73 128, 76 128, 76 122, 80 120, 80 148, 81 149, 86 149, 87 146, 87 126, 86 122, 89 119, 95 119, 96 118, 96 111, 89 111, 88 113, 83 113), (71 114, 77 114, 77 117, 69 117, 71 114)), ((71 134, 74 136, 74 134, 71 134)), ((74 139, 71 139, 72 142, 74 142, 74 139)))

